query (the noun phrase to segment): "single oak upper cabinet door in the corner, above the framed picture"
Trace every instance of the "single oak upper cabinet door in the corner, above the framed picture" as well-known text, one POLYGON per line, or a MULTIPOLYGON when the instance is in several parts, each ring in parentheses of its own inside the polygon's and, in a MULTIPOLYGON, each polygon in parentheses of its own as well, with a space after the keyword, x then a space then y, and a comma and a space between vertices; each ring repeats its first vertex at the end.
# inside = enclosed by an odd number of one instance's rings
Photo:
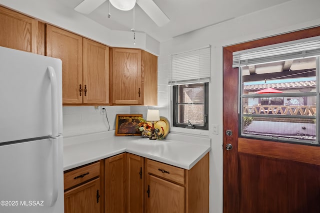
POLYGON ((112 48, 112 104, 141 104, 141 50, 112 48))

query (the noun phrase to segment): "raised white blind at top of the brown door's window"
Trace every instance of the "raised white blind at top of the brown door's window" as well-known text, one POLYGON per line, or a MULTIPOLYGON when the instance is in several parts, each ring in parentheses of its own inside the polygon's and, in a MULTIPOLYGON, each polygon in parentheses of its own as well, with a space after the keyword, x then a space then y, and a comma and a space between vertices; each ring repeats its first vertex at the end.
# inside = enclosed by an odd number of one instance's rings
POLYGON ((320 55, 320 36, 233 52, 232 67, 320 55))

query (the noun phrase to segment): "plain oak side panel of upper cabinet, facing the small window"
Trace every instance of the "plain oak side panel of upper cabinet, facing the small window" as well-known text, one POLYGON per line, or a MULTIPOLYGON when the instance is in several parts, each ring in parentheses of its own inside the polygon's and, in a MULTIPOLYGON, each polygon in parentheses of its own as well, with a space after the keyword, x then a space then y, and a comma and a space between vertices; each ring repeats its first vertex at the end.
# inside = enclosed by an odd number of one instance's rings
POLYGON ((142 105, 157 105, 157 61, 158 58, 151 53, 142 50, 142 105))

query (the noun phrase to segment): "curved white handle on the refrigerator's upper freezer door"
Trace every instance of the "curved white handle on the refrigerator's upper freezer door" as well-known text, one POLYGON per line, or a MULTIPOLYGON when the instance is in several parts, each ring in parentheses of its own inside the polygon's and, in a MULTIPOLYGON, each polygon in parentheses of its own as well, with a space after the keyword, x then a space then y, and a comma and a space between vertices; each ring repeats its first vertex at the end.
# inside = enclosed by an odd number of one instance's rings
POLYGON ((58 137, 58 93, 56 75, 53 67, 48 66, 47 72, 51 82, 51 137, 58 137))

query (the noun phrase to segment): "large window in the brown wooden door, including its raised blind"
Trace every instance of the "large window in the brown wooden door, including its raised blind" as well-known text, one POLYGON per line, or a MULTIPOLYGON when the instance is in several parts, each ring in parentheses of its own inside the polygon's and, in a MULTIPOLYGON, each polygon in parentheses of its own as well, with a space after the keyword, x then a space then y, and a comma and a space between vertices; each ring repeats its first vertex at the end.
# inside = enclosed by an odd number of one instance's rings
POLYGON ((312 39, 233 53, 241 136, 319 144, 320 40, 312 39))

